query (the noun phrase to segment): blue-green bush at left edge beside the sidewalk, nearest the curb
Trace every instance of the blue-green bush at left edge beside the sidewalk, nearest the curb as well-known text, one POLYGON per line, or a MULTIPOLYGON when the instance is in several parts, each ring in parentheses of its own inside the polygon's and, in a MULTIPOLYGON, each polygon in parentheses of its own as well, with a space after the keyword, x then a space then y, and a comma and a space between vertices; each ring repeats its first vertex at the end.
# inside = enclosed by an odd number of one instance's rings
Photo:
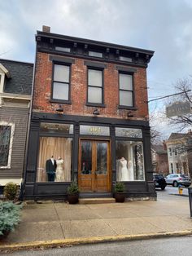
POLYGON ((21 207, 9 201, 0 202, 0 235, 13 231, 20 222, 21 207))

